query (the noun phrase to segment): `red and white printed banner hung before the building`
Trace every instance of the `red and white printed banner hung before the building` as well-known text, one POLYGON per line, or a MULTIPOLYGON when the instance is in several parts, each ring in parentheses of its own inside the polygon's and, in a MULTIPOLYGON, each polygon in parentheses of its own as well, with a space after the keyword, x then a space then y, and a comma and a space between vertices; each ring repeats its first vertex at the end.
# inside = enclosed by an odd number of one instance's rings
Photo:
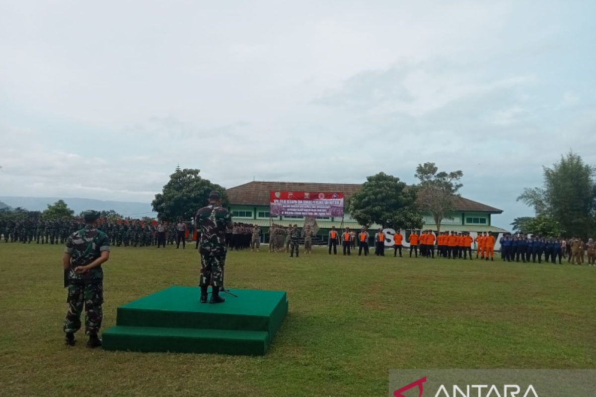
POLYGON ((276 192, 271 190, 272 216, 343 217, 343 193, 276 192))

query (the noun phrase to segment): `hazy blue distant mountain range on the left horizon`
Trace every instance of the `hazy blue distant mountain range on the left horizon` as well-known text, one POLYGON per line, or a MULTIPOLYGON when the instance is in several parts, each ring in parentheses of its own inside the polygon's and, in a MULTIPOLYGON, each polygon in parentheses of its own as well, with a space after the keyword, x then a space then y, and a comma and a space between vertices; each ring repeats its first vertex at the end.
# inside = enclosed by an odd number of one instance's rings
POLYGON ((44 211, 48 208, 48 204, 54 204, 60 199, 63 199, 69 208, 75 211, 75 215, 85 210, 114 210, 120 215, 133 218, 155 217, 157 215, 156 212, 151 211, 151 204, 145 202, 103 201, 66 197, 0 196, 0 208, 6 205, 13 208, 22 207, 29 211, 44 211))

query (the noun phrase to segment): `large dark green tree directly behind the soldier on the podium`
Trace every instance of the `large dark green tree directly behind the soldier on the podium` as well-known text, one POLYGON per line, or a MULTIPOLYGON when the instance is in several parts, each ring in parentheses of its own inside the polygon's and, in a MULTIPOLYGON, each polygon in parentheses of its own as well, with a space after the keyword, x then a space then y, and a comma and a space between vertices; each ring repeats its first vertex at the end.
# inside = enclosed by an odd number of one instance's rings
POLYGON ((222 194, 224 205, 228 205, 228 196, 222 186, 211 183, 199 176, 200 170, 176 167, 170 175, 170 181, 163 186, 162 193, 155 195, 151 202, 153 211, 161 220, 175 221, 178 218, 190 220, 197 210, 207 204, 209 193, 217 190, 222 194))

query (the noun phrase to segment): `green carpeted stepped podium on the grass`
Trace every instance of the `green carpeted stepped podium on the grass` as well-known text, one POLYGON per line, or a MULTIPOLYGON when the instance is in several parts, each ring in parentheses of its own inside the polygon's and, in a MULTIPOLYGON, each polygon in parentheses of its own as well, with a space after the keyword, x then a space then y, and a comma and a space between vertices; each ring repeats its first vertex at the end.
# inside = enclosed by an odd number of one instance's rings
POLYGON ((199 287, 172 286, 117 309, 105 350, 263 355, 288 311, 283 291, 231 289, 201 304, 199 287))

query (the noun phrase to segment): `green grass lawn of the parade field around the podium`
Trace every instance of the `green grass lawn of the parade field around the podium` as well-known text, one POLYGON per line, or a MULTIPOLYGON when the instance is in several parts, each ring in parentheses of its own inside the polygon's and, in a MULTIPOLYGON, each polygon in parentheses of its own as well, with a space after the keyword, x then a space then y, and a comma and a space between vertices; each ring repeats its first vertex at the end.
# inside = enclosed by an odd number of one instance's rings
MULTIPOLYGON (((113 248, 103 329, 197 285, 193 248, 113 248)), ((63 345, 61 251, 0 243, 0 395, 384 396, 392 368, 596 368, 596 267, 232 251, 228 287, 290 302, 267 355, 234 357, 63 345)))

